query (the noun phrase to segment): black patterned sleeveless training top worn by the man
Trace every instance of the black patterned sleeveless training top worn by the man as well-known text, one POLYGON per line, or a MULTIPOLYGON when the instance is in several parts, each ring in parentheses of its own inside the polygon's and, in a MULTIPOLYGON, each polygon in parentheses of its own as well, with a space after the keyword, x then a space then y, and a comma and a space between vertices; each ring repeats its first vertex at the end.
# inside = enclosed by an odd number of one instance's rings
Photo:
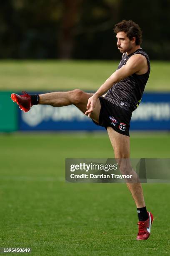
POLYGON ((119 63, 118 69, 125 65, 128 59, 134 54, 142 54, 146 57, 148 72, 145 74, 132 74, 122 79, 120 82, 114 84, 105 95, 105 99, 109 102, 131 112, 140 104, 150 74, 150 60, 148 54, 143 49, 138 49, 128 56, 125 53, 119 63))

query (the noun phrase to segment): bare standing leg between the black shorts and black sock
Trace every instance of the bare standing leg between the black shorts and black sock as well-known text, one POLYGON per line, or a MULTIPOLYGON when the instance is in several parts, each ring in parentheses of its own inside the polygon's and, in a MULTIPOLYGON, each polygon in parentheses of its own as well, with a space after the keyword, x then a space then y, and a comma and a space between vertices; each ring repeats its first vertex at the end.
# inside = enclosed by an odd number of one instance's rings
MULTIPOLYGON (((130 138, 114 131, 111 127, 107 127, 107 133, 109 135, 112 147, 115 152, 116 159, 129 159, 130 158, 130 138)), ((143 189, 140 183, 126 183, 130 190, 136 207, 145 207, 145 201, 143 197, 143 189)))

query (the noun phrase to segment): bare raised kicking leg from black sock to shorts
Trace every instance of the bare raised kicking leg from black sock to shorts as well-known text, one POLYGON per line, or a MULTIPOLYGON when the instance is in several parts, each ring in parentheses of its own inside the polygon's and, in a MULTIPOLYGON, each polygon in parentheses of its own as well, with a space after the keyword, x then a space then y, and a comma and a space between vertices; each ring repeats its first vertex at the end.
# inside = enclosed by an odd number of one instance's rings
MULTIPOLYGON (((86 93, 79 89, 75 89, 68 92, 50 92, 45 94, 40 94, 39 104, 51 105, 53 107, 63 107, 68 105, 75 105, 83 113, 87 110, 88 99, 92 96, 92 93, 86 93)), ((91 114, 90 118, 99 122, 100 114, 100 100, 97 100, 95 109, 91 114)))

